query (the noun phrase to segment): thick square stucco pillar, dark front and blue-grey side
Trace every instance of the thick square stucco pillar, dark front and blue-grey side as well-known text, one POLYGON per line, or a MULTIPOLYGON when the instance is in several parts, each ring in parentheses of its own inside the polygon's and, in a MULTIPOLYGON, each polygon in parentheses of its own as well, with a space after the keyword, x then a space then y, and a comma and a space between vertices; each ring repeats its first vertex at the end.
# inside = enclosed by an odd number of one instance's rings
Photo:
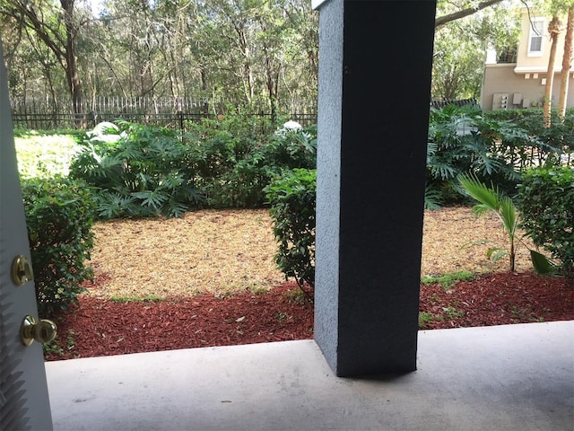
POLYGON ((315 339, 339 376, 416 369, 435 5, 317 5, 315 339))

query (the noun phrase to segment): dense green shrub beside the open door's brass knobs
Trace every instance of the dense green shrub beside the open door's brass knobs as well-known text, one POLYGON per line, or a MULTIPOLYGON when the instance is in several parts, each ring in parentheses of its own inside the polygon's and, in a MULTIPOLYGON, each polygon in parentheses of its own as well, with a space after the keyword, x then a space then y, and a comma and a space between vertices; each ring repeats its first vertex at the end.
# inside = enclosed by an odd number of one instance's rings
POLYGON ((23 179, 22 196, 39 313, 66 310, 93 277, 95 205, 87 185, 65 177, 23 179))

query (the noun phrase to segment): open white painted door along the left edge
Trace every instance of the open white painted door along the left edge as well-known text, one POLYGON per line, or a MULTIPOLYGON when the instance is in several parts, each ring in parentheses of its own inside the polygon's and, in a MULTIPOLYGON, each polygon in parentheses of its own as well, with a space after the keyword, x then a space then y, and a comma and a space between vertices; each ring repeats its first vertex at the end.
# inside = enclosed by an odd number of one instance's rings
MULTIPOLYGON (((33 281, 16 286, 13 259, 30 260, 13 140, 4 53, 0 42, 0 430, 52 429, 42 346, 25 346, 22 321, 38 321, 33 281)), ((23 268, 23 267, 22 267, 23 268)))

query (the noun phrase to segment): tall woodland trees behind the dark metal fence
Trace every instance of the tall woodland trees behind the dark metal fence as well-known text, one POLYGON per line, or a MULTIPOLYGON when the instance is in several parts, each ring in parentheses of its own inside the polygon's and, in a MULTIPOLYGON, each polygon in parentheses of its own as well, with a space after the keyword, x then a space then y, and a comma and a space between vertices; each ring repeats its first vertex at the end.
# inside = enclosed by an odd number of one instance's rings
MULTIPOLYGON (((565 0, 562 0, 565 1, 565 0)), ((477 97, 489 45, 516 44, 511 0, 439 0, 433 97, 477 97), (503 13, 501 13, 501 11, 503 13)), ((182 98, 312 107, 318 13, 309 0, 0 0, 11 97, 182 98)), ((216 103, 217 102, 217 103, 216 103)))

